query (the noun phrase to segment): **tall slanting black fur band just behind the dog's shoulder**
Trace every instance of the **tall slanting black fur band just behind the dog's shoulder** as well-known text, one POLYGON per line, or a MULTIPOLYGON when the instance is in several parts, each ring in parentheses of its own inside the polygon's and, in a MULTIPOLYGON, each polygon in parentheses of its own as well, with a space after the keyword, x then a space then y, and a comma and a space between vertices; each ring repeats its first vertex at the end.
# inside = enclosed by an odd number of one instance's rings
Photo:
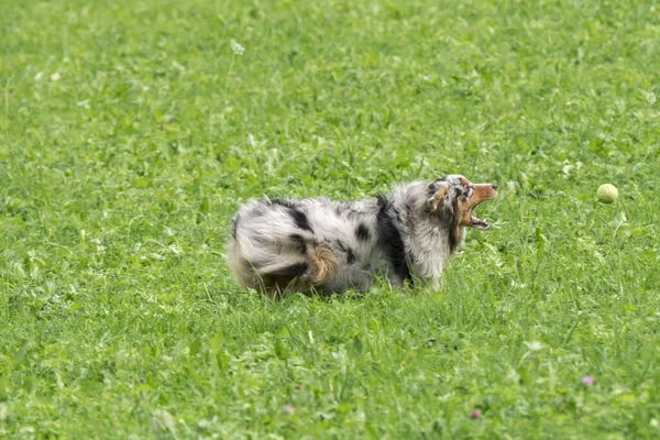
POLYGON ((393 206, 384 196, 377 196, 378 201, 378 245, 389 258, 394 273, 402 278, 413 280, 410 268, 406 258, 406 249, 402 240, 402 233, 392 218, 393 206))

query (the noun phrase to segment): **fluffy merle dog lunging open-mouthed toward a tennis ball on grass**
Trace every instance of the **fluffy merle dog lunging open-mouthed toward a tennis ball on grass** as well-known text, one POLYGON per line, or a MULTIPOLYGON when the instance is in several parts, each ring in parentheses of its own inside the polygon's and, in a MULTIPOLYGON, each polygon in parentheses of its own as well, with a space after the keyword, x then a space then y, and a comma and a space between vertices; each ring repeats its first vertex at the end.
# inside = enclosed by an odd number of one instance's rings
POLYGON ((496 196, 495 184, 449 175, 355 201, 250 200, 232 218, 229 266, 273 297, 364 292, 378 274, 394 286, 438 282, 465 228, 488 229, 472 210, 496 196))

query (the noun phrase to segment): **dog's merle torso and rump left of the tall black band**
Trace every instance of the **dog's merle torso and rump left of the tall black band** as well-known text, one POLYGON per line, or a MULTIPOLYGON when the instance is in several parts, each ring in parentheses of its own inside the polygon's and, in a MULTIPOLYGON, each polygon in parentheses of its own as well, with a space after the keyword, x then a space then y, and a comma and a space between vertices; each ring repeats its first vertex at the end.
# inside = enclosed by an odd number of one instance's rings
POLYGON ((369 288, 387 270, 377 240, 376 199, 250 201, 232 219, 230 266, 246 287, 275 294, 369 288))

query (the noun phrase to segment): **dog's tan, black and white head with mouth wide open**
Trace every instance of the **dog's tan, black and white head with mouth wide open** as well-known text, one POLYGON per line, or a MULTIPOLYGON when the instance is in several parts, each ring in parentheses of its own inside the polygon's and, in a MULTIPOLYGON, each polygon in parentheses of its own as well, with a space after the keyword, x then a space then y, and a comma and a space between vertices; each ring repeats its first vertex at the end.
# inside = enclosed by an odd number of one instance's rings
POLYGON ((452 229, 488 229, 488 223, 472 216, 472 210, 482 201, 495 198, 497 185, 471 184, 465 177, 453 174, 433 180, 428 194, 431 213, 448 221, 452 229))

